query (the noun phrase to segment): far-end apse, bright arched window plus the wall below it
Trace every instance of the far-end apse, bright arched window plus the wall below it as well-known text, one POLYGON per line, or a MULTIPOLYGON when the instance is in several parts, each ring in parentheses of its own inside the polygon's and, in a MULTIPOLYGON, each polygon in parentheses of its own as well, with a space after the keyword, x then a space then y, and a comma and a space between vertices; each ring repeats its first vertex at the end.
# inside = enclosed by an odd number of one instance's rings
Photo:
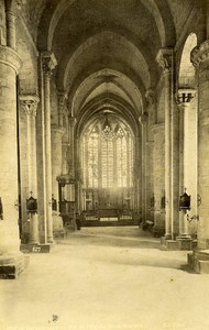
POLYGON ((132 210, 134 136, 111 111, 86 124, 80 143, 85 208, 132 210))

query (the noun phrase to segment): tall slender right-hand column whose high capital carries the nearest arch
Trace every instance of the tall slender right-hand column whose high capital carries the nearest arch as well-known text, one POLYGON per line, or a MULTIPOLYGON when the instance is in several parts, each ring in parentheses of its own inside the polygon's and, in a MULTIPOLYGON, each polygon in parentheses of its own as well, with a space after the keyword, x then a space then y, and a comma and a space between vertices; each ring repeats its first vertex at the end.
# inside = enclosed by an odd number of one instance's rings
POLYGON ((165 94, 165 239, 173 238, 172 195, 172 94, 173 94, 173 50, 160 50, 156 61, 163 69, 165 94))

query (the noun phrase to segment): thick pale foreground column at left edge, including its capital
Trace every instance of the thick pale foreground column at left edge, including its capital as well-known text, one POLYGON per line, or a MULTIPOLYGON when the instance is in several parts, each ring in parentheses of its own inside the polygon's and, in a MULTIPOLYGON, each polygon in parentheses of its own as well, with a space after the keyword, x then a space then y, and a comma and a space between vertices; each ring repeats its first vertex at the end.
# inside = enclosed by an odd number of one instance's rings
POLYGON ((19 55, 0 46, 0 197, 3 220, 0 220, 0 255, 20 249, 18 212, 18 145, 16 145, 16 74, 19 55))

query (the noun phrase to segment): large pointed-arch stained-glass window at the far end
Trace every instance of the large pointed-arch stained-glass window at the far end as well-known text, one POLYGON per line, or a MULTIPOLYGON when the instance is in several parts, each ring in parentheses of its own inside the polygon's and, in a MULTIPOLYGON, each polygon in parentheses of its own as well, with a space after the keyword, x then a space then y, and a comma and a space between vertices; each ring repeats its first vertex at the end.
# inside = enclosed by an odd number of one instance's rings
POLYGON ((118 119, 105 116, 86 131, 81 143, 85 188, 133 186, 133 135, 118 119))

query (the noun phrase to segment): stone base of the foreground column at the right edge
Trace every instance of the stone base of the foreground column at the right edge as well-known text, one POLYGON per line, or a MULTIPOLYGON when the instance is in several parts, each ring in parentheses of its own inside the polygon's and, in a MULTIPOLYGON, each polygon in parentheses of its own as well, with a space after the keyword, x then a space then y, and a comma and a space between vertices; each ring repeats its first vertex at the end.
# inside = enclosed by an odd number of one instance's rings
POLYGON ((194 251, 187 255, 189 266, 198 274, 209 274, 209 250, 194 251))

